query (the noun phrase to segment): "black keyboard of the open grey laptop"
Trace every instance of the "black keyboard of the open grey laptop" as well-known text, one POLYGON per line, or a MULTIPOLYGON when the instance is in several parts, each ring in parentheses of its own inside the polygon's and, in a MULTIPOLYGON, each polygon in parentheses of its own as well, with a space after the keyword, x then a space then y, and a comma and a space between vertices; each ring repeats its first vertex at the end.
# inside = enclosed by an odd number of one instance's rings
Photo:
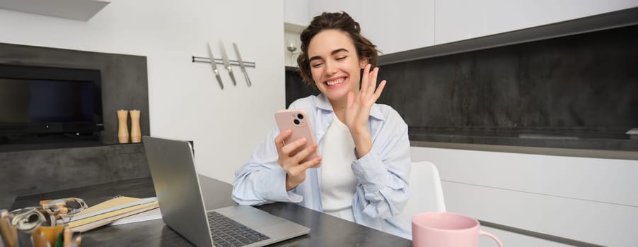
POLYGON ((215 246, 245 246, 270 239, 268 236, 250 229, 250 227, 221 215, 219 212, 209 211, 207 215, 215 246))

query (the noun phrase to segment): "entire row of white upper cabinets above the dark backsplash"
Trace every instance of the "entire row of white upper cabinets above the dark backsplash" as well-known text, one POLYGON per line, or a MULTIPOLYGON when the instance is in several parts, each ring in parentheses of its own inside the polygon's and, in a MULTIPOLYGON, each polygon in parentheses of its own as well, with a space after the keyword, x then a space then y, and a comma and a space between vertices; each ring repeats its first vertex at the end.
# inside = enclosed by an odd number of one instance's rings
POLYGON ((291 11, 304 13, 305 10, 300 8, 307 6, 309 23, 313 16, 324 11, 346 11, 361 23, 362 33, 383 54, 533 28, 638 6, 636 0, 402 0, 391 4, 381 0, 301 2, 302 4, 294 4, 296 10, 291 7, 293 5, 286 5, 286 16, 294 15, 289 13, 291 11))

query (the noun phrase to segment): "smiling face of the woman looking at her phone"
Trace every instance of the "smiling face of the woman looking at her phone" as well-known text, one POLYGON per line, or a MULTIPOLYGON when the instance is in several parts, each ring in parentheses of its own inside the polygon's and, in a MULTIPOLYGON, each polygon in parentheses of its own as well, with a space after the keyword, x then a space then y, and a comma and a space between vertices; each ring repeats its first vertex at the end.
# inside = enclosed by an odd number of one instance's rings
POLYGON ((308 60, 315 85, 331 102, 347 100, 348 92, 359 92, 361 68, 352 38, 341 30, 319 32, 308 44, 308 60))

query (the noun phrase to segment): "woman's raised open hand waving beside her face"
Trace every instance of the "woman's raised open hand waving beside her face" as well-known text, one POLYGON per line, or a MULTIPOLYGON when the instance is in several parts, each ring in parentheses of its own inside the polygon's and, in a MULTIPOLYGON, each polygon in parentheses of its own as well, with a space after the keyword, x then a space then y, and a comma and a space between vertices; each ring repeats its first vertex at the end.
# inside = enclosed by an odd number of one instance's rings
POLYGON ((354 146, 358 157, 366 155, 372 149, 370 131, 368 130, 368 119, 372 105, 383 92, 385 80, 376 87, 376 78, 379 69, 370 71, 371 65, 364 68, 361 76, 361 90, 358 93, 348 93, 348 104, 346 107, 345 124, 350 130, 354 139, 354 146))

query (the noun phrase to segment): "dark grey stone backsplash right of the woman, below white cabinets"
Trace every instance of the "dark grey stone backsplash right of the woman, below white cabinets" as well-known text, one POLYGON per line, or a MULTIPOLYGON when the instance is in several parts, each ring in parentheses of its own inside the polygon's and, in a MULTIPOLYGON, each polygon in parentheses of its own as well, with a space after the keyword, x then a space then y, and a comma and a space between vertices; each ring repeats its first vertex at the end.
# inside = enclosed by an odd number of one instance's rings
POLYGON ((382 66, 409 126, 638 127, 638 25, 382 66))

